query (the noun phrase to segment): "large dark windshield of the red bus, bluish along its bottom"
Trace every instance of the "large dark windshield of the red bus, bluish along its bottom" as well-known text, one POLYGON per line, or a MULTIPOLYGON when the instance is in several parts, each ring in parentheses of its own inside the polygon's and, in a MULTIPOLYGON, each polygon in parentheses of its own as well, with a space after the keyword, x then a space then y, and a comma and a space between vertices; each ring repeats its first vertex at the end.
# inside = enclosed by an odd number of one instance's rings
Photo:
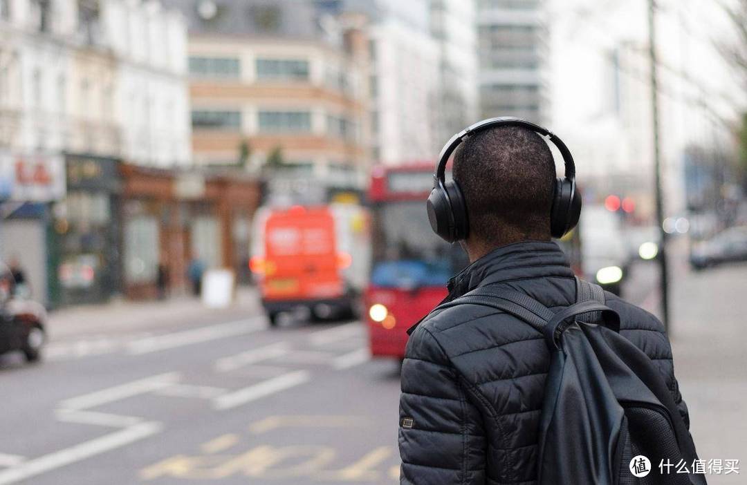
POLYGON ((433 234, 424 201, 376 204, 373 210, 373 268, 378 287, 443 287, 468 263, 459 245, 433 234))

